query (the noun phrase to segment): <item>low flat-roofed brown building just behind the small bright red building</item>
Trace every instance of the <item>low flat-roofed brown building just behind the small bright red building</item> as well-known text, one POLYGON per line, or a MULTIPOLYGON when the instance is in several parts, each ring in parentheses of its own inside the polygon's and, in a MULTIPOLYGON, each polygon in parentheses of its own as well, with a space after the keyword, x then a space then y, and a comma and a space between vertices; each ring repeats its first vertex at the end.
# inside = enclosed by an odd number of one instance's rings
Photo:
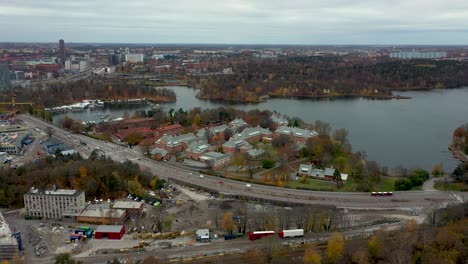
POLYGON ((120 209, 86 209, 77 217, 80 223, 122 225, 127 219, 127 212, 120 209))

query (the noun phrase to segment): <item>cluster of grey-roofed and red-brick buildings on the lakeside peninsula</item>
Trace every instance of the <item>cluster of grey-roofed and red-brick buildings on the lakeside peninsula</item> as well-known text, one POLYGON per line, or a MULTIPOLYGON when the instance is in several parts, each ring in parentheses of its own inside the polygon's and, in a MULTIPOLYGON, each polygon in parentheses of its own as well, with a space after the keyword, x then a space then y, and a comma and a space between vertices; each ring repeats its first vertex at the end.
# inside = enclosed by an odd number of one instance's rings
MULTIPOLYGON (((220 169, 231 163, 236 153, 242 153, 251 160, 260 160, 265 152, 256 146, 258 143, 271 143, 275 137, 287 136, 293 144, 305 142, 318 135, 313 130, 287 127, 287 120, 272 115, 275 131, 249 124, 236 118, 228 124, 212 123, 196 132, 184 133, 180 124, 156 127, 152 118, 140 118, 113 123, 115 136, 126 141, 131 135, 139 135, 143 141, 140 146, 148 148, 157 160, 169 160, 173 155, 182 156, 205 163, 206 167, 220 169), (228 133, 228 134, 226 134, 228 133)), ((100 130, 98 125, 96 131, 100 130)))

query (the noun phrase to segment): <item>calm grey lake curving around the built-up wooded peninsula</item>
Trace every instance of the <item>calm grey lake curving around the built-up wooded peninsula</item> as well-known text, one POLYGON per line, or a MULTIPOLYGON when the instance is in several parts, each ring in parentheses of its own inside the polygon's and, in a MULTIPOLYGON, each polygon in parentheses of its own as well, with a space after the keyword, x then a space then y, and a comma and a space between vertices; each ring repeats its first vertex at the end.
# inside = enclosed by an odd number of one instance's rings
MULTIPOLYGON (((199 100, 197 90, 169 87, 177 94, 177 102, 162 104, 166 109, 194 107, 215 108, 226 106, 222 102, 199 100)), ((399 92, 410 100, 367 100, 360 98, 335 100, 270 99, 260 104, 231 104, 242 110, 276 110, 306 122, 323 120, 332 128, 346 128, 354 150, 366 151, 368 159, 394 168, 432 169, 442 163, 445 169, 456 165, 447 145, 452 131, 468 122, 468 88, 422 92, 399 92)), ((146 106, 105 107, 57 114, 54 121, 65 115, 84 121, 100 120, 98 113, 121 117, 132 115, 146 106)))

